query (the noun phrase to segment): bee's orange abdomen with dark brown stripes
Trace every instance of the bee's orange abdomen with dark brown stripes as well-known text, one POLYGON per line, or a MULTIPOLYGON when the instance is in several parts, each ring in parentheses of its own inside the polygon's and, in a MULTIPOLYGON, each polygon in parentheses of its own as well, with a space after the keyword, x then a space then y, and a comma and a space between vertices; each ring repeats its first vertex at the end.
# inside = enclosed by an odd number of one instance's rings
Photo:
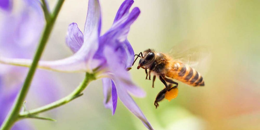
POLYGON ((175 62, 171 71, 167 73, 168 77, 179 80, 191 86, 204 86, 202 76, 193 68, 181 63, 175 62))

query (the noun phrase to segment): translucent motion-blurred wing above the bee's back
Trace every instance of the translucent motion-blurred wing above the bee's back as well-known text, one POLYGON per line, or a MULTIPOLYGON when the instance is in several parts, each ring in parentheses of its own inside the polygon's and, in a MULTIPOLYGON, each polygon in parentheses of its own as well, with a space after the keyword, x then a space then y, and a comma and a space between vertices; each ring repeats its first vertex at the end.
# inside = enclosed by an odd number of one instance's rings
POLYGON ((174 46, 169 55, 173 60, 181 61, 190 67, 205 73, 211 60, 210 48, 208 46, 194 46, 181 43, 174 46))

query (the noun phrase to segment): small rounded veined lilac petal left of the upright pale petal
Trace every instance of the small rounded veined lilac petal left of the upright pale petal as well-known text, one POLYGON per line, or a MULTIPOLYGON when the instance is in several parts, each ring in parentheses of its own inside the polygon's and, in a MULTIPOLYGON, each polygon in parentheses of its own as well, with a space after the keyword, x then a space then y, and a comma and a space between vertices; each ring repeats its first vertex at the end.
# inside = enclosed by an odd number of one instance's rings
POLYGON ((76 23, 69 25, 66 37, 67 46, 76 53, 83 44, 83 34, 76 23))

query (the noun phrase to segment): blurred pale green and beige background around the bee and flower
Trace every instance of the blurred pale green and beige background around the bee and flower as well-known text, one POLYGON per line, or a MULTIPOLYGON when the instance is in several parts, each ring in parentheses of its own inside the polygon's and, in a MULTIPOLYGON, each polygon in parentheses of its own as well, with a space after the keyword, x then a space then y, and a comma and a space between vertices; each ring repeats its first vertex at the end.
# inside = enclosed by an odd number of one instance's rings
MULTIPOLYGON (((55 2, 49 1, 51 8, 55 2)), ((121 3, 100 0, 101 33, 112 25, 121 3)), ((87 5, 87 0, 64 2, 43 60, 72 55, 65 44, 67 27, 76 22, 83 30, 87 5)), ((128 35, 135 53, 147 48, 167 53, 183 41, 208 46, 211 53, 207 70, 198 67, 205 72, 205 87, 179 83, 178 97, 162 101, 158 109, 153 102, 163 84, 157 80, 152 88, 144 70, 133 67, 134 82, 147 92, 145 98, 134 100, 154 129, 260 129, 259 5, 259 0, 135 0, 133 7, 138 6, 141 14, 128 35)), ((84 77, 83 73, 51 73, 60 84, 59 97, 70 93, 84 77)), ((35 94, 29 92, 28 109, 37 107, 34 99, 35 94)), ((82 97, 42 115, 57 122, 28 119, 35 129, 146 129, 120 101, 112 116, 103 106, 101 80, 92 82, 82 97)))

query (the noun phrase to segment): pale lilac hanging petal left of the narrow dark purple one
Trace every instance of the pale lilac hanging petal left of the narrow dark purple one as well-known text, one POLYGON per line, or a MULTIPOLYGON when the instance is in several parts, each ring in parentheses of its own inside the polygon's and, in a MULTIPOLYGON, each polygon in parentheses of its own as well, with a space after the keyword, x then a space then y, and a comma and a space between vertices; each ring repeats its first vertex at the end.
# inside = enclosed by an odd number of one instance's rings
POLYGON ((113 114, 113 102, 112 102, 112 96, 111 96, 111 92, 112 92, 111 79, 103 78, 102 82, 103 82, 104 106, 108 109, 111 109, 112 114, 113 114))

